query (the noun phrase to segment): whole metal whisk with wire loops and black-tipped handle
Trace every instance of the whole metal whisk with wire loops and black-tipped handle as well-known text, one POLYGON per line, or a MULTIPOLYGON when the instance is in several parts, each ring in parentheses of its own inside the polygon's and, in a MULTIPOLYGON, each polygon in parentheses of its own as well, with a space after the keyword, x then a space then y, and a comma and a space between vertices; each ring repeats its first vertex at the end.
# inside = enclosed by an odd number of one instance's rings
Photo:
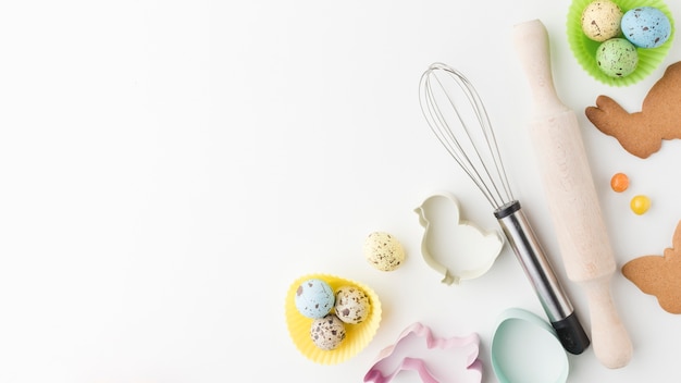
POLYGON ((520 201, 513 198, 494 129, 475 88, 456 69, 433 63, 421 76, 419 90, 421 111, 429 126, 494 209, 494 217, 564 348, 581 354, 589 347, 590 339, 520 201))

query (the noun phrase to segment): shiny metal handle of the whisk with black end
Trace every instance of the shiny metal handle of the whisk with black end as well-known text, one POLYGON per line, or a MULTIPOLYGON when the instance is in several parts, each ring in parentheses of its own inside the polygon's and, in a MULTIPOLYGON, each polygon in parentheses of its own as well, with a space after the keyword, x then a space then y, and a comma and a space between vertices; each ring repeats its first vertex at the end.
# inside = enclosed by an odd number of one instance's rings
POLYGON ((583 353, 590 344, 572 304, 558 282, 552 265, 536 239, 520 202, 515 200, 494 211, 504 234, 530 280, 564 348, 571 354, 583 353))

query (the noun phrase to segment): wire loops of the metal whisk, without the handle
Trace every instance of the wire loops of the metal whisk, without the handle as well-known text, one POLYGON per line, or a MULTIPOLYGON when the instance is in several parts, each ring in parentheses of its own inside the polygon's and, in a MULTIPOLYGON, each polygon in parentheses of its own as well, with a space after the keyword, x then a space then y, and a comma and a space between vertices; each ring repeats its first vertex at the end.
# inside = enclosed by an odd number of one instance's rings
POLYGON ((434 63, 421 76, 419 87, 421 111, 431 131, 492 207, 499 209, 513 200, 490 116, 468 78, 446 64, 434 63), (451 81, 456 87, 448 84, 451 81), (457 90, 472 116, 463 113, 455 97, 457 90), (474 120, 482 137, 471 128, 470 120, 474 120), (480 138, 484 145, 480 145, 480 138))

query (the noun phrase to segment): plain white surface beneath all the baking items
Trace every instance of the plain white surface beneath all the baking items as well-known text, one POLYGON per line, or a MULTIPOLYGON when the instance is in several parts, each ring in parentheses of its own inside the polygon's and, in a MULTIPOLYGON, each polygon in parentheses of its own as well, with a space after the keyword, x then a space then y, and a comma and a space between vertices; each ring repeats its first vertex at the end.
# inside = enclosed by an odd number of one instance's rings
MULTIPOLYGON (((681 3, 668 2, 676 18, 681 3)), ((530 97, 509 28, 540 18, 556 88, 578 111, 618 267, 661 254, 681 218, 681 143, 647 160, 591 126, 600 95, 640 108, 645 82, 591 79, 564 35, 568 1, 23 1, 0 7, 0 381, 225 382, 274 374, 360 382, 414 321, 488 342, 509 307, 542 313, 507 248, 481 279, 439 283, 418 251, 413 209, 449 190, 462 214, 496 222, 428 131, 418 79, 433 61, 473 82, 516 197, 566 279, 524 121, 530 97), (238 5, 236 5, 238 4, 238 5), (629 174, 623 194, 610 176, 629 174), (653 200, 644 215, 634 194, 653 200), (399 270, 363 260, 372 231, 406 247, 399 270), (333 367, 305 359, 283 318, 288 284, 331 272, 370 284, 384 319, 333 367)), ((678 316, 620 273, 614 298, 634 345, 626 368, 589 349, 570 382, 678 381, 678 316)), ((409 374, 400 381, 416 381, 409 374)))

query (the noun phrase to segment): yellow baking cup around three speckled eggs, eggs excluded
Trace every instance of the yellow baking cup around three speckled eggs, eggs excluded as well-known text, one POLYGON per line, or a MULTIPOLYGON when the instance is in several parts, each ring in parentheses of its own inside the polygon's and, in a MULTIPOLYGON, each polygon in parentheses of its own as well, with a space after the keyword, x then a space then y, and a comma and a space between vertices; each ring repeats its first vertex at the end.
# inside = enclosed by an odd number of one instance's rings
POLYGON ((286 294, 285 313, 290 338, 306 358, 320 365, 338 365, 359 354, 376 334, 381 323, 381 301, 373 289, 360 282, 331 274, 309 274, 300 276, 290 284, 286 294), (340 346, 333 350, 323 350, 314 345, 310 337, 310 328, 314 320, 306 318, 296 309, 296 291, 302 282, 311 279, 325 281, 334 292, 342 286, 355 286, 369 296, 371 307, 369 317, 358 324, 345 323, 346 337, 340 346))

